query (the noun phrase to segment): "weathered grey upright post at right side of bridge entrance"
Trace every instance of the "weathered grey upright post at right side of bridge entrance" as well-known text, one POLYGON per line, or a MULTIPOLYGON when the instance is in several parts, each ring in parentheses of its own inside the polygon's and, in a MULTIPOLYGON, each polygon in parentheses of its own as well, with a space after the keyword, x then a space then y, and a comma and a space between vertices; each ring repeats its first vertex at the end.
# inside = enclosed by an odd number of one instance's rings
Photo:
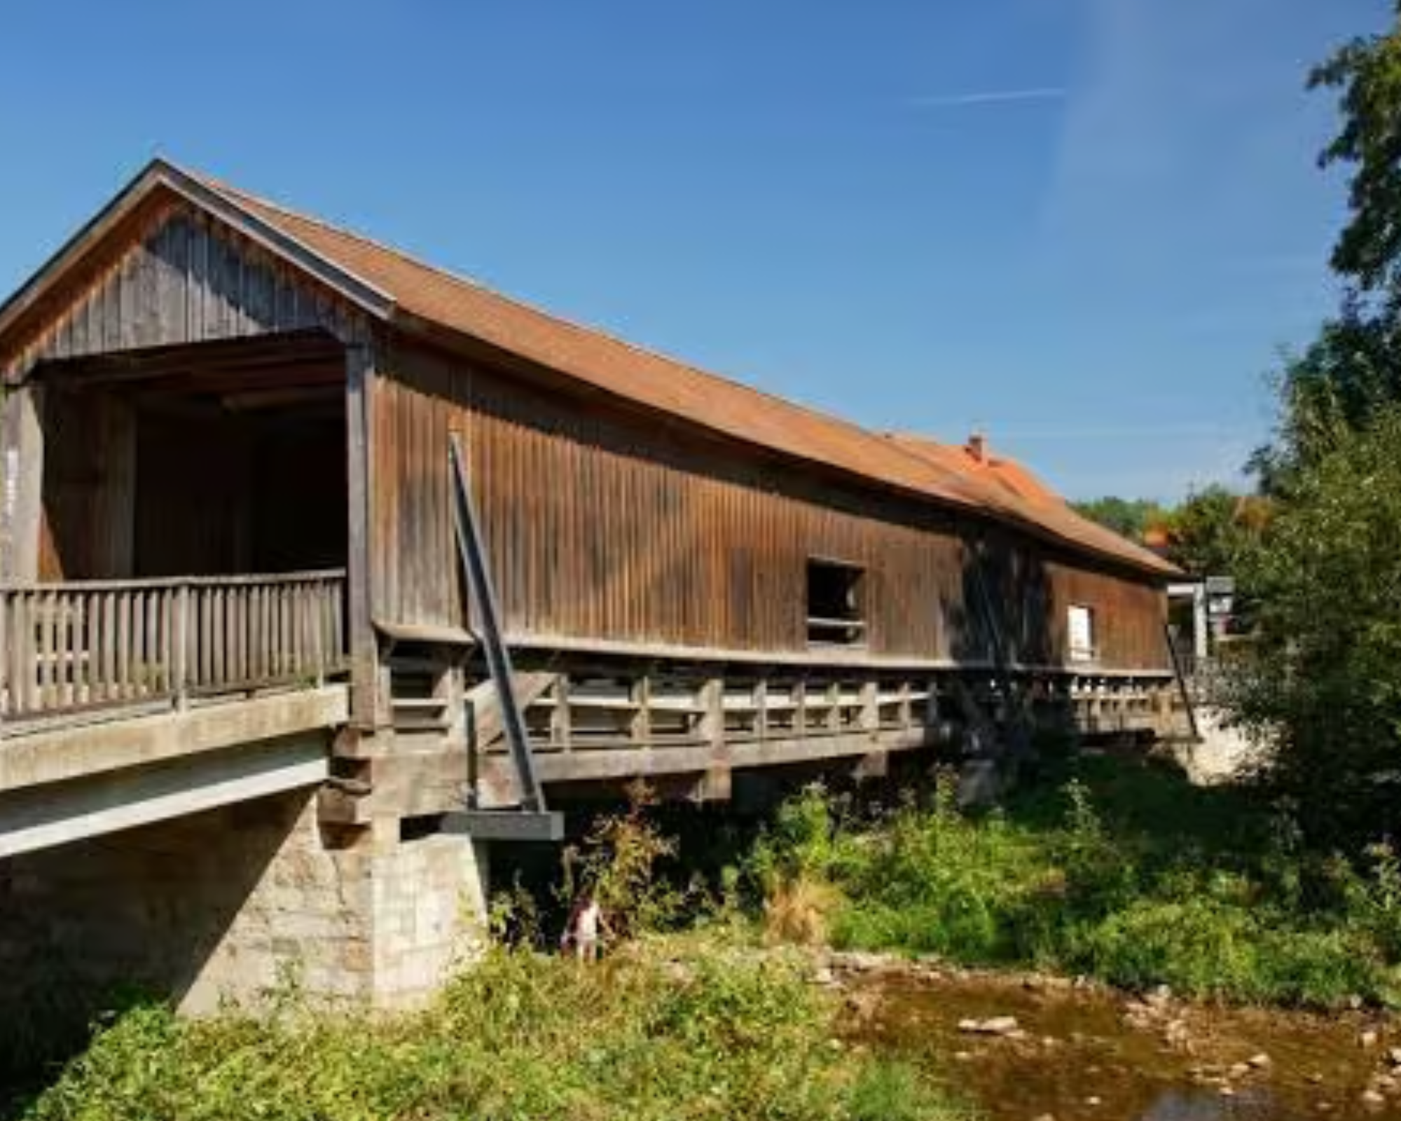
POLYGON ((370 429, 374 356, 367 343, 346 348, 346 478, 349 483, 349 556, 346 586, 350 638, 350 719, 373 731, 388 720, 378 689, 378 645, 371 619, 370 586, 370 429))

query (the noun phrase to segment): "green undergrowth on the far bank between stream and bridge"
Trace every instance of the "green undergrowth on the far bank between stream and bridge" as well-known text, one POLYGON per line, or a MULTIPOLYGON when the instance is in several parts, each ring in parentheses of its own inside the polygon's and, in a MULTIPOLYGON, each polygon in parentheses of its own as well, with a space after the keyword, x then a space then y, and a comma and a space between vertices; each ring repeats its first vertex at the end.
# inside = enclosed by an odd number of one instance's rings
POLYGON ((1332 1006, 1401 989, 1401 876, 1311 858, 1251 792, 1163 764, 1086 758, 1059 790, 965 816, 950 783, 876 820, 811 790, 752 866, 771 898, 821 900, 835 944, 1089 974, 1194 996, 1332 1006))

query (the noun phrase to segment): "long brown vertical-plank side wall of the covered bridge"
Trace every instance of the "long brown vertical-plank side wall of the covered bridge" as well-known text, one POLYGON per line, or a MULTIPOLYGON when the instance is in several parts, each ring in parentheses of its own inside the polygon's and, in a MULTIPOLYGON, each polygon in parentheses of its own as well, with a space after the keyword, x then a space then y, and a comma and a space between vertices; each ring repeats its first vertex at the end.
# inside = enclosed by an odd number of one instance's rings
POLYGON ((403 346, 375 397, 374 615, 460 624, 447 434, 462 433, 509 631, 743 652, 808 650, 808 556, 864 568, 869 649, 985 663, 1065 659, 1072 603, 1104 664, 1161 668, 1161 591, 988 520, 829 486, 403 346), (981 546, 969 542, 981 539, 981 546))

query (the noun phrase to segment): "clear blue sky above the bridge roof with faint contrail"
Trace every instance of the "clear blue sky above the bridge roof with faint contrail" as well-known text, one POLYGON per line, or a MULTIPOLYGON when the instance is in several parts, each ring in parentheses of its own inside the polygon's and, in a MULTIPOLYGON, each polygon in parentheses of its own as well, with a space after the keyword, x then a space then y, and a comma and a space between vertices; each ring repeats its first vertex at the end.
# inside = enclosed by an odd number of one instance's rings
POLYGON ((153 154, 1073 497, 1238 478, 1387 0, 17 3, 0 290, 153 154))

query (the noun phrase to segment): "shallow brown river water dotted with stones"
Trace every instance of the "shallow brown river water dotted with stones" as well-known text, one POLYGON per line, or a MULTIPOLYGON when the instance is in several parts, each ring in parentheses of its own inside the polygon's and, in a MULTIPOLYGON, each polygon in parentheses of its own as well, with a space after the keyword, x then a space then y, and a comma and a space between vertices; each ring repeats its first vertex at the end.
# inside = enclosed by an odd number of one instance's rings
POLYGON ((836 984, 852 1045, 913 1059, 992 1121, 1401 1121, 1401 1026, 1367 1012, 1216 1009, 933 970, 839 971, 836 984), (1009 1016, 1010 1034, 968 1030, 1009 1016))

